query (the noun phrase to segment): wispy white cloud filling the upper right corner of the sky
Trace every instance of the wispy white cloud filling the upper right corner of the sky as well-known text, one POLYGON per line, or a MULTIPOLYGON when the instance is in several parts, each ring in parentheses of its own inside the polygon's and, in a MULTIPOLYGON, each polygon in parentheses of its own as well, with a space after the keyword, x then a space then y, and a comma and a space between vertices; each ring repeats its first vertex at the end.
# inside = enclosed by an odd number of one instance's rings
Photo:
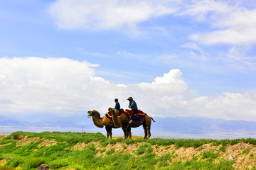
POLYGON ((208 23, 214 30, 203 33, 193 33, 191 40, 203 45, 215 44, 254 44, 256 42, 256 10, 227 1, 193 1, 179 13, 195 16, 198 21, 208 23))

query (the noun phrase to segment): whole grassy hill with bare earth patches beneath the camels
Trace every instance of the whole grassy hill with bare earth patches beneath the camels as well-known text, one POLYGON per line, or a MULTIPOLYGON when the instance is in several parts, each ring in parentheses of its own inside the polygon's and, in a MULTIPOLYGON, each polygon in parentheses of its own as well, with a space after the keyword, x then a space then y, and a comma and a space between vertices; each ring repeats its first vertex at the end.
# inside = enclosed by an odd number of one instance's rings
POLYGON ((255 169, 256 140, 107 140, 102 133, 0 135, 0 169, 255 169), (228 157, 233 160, 228 160, 228 157))

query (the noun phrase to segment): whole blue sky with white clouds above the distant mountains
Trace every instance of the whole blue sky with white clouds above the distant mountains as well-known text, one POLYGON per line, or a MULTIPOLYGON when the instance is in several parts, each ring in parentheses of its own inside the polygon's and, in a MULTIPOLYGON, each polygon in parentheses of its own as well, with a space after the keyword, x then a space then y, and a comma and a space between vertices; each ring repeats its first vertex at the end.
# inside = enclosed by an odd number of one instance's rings
POLYGON ((0 0, 0 116, 256 121, 256 2, 0 0))

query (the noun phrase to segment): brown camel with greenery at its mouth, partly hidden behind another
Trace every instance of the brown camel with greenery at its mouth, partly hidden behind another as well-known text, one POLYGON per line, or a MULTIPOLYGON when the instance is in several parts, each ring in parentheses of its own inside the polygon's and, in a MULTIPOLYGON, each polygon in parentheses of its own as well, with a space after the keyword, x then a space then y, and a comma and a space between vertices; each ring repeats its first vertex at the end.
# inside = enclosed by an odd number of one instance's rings
MULTIPOLYGON (((112 108, 109 108, 109 111, 111 111, 112 108)), ((115 125, 110 125, 110 119, 107 118, 106 115, 104 115, 102 118, 100 118, 100 113, 96 110, 88 111, 88 116, 92 116, 92 121, 97 126, 97 128, 103 128, 105 126, 107 130, 107 139, 112 139, 112 128, 120 128, 115 125)), ((126 136, 124 132, 124 137, 126 136)))

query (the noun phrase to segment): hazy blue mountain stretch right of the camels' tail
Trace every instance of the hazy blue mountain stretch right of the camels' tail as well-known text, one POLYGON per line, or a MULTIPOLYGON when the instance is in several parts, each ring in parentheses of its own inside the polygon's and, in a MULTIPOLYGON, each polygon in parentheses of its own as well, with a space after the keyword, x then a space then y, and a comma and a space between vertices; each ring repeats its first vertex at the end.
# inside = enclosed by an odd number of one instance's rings
POLYGON ((256 135, 256 122, 213 118, 155 118, 156 130, 182 134, 208 134, 219 132, 247 132, 256 135))

